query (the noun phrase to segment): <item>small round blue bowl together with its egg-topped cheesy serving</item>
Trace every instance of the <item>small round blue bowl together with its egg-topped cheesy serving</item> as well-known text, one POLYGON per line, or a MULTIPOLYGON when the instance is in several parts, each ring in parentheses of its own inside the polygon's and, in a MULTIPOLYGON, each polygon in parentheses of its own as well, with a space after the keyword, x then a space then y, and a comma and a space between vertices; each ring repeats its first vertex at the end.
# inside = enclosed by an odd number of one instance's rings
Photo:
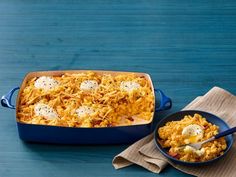
POLYGON ((184 165, 206 164, 221 158, 232 145, 232 136, 215 139, 200 149, 191 143, 207 140, 228 125, 220 118, 202 111, 180 111, 163 119, 157 126, 158 149, 170 160, 184 165))

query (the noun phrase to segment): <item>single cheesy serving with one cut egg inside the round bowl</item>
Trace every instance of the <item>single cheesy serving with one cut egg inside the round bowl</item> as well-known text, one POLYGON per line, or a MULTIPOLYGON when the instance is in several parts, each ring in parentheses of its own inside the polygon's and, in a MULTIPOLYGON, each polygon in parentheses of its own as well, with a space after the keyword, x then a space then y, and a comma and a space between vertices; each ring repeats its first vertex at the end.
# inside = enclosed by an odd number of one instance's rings
POLYGON ((219 127, 199 114, 186 115, 182 120, 167 122, 158 129, 159 142, 163 148, 169 149, 169 155, 188 162, 204 162, 222 155, 227 147, 224 137, 203 144, 200 150, 187 145, 204 141, 218 133, 219 127))

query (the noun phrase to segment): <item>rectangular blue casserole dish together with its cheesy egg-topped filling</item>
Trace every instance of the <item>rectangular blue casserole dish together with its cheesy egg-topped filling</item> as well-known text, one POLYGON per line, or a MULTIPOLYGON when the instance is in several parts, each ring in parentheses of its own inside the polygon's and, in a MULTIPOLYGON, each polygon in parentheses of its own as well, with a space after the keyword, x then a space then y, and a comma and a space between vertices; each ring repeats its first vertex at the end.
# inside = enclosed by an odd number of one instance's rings
MULTIPOLYGON (((3 106, 14 108, 11 97, 17 89, 3 96, 3 106)), ((158 108, 145 73, 32 72, 24 78, 16 100, 19 135, 26 141, 49 143, 133 142, 151 132, 155 112, 171 108, 170 98, 157 92, 158 108)))

